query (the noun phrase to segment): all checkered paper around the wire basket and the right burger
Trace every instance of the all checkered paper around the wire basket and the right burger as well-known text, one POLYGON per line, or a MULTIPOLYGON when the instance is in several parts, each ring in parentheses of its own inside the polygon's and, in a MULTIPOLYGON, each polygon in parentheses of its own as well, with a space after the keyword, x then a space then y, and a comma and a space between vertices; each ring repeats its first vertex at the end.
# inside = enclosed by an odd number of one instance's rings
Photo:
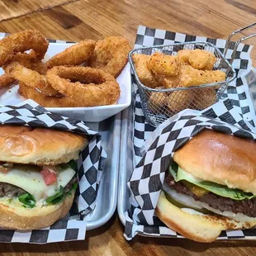
MULTIPOLYGON (((208 41, 221 52, 225 40, 188 36, 180 33, 150 29, 139 26, 135 48, 152 45, 170 45, 184 41, 208 41)), ((234 44, 230 45, 230 58, 234 44)), ((173 152, 183 146, 203 129, 255 139, 256 118, 249 97, 249 89, 244 76, 251 69, 250 45, 239 45, 233 67, 237 78, 230 83, 222 100, 204 111, 185 110, 165 121, 158 128, 149 126, 140 106, 140 95, 134 83, 134 118, 131 140, 133 145, 133 165, 130 177, 130 209, 126 211, 126 239, 136 234, 150 236, 182 237, 168 229, 156 216, 154 209, 164 182, 164 173, 172 159, 173 152), (228 98, 227 98, 228 97, 228 98)), ((135 79, 134 79, 135 81, 135 79)), ((256 230, 223 231, 218 239, 256 239, 256 230)))

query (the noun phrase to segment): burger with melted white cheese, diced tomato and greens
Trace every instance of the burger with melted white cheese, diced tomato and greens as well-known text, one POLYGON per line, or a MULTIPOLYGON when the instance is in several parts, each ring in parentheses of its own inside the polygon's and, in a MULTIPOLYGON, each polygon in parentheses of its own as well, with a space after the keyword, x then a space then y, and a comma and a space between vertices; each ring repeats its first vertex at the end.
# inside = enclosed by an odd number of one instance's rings
POLYGON ((35 230, 67 215, 87 138, 69 131, 0 126, 0 227, 35 230))

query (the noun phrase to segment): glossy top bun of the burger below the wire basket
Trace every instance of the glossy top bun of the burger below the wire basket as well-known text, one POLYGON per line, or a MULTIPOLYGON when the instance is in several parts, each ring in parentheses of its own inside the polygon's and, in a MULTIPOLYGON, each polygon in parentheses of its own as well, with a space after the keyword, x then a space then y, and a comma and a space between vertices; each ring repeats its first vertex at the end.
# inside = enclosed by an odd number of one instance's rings
POLYGON ((205 129, 174 153, 187 173, 256 194, 256 142, 205 129))

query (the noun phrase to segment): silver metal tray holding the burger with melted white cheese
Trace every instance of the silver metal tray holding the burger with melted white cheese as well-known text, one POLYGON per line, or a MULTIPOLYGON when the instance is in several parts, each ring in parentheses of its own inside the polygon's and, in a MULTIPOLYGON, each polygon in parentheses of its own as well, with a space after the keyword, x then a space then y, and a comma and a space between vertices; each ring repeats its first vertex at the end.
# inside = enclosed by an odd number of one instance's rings
POLYGON ((102 147, 107 152, 104 176, 99 186, 95 209, 86 217, 87 230, 104 225, 116 211, 118 164, 121 139, 121 113, 98 123, 87 122, 102 135, 102 147))

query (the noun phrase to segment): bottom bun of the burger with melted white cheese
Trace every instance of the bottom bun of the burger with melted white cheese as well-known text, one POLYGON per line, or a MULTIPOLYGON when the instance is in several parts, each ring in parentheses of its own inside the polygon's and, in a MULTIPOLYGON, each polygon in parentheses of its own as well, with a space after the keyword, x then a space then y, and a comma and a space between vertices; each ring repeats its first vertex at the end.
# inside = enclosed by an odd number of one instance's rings
POLYGON ((39 230, 63 218, 73 204, 74 192, 56 205, 35 208, 12 206, 0 201, 0 227, 12 230, 39 230))

